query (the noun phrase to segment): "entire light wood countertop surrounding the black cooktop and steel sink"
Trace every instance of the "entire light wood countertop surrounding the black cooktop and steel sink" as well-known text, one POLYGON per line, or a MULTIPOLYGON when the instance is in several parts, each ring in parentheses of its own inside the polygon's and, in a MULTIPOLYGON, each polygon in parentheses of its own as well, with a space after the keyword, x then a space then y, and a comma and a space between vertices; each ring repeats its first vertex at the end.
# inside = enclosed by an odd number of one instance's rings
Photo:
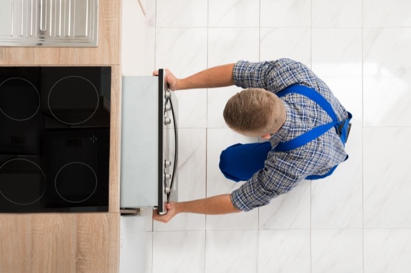
POLYGON ((111 66, 109 212, 0 214, 0 272, 119 270, 121 0, 99 1, 97 48, 0 47, 0 66, 111 66))

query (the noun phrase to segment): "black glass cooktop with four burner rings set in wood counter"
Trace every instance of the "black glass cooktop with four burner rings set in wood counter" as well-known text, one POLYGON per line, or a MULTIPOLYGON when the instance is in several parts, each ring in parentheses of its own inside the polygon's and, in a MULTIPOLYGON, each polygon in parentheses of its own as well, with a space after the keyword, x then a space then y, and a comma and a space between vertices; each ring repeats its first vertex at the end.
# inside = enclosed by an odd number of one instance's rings
POLYGON ((0 213, 108 211, 110 67, 0 67, 0 213))

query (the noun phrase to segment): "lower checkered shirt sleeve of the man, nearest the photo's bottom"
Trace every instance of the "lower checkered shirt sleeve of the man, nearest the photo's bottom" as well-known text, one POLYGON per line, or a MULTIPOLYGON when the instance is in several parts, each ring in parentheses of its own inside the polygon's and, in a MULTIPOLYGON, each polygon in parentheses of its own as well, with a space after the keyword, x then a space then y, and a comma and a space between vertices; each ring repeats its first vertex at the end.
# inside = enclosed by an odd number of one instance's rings
MULTIPOLYGON (((286 159, 285 159, 286 160, 286 159)), ((247 182, 231 193, 231 202, 240 211, 270 203, 271 199, 294 188, 308 174, 308 168, 290 167, 289 162, 266 160, 264 169, 256 172, 247 182)))

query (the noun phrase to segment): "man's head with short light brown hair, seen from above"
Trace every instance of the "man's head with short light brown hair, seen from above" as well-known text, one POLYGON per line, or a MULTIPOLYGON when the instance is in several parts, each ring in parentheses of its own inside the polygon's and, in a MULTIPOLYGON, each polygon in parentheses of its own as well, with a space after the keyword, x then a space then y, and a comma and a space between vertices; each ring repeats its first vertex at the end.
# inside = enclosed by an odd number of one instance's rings
POLYGON ((264 89, 250 88, 232 96, 223 112, 227 125, 246 136, 269 139, 283 125, 286 110, 283 101, 264 89))

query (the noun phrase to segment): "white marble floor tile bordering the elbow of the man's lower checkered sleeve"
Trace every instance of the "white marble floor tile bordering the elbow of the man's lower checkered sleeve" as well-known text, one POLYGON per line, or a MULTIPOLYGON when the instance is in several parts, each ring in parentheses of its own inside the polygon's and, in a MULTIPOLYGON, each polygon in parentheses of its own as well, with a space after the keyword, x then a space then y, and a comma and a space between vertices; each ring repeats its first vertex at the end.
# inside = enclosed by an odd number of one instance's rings
POLYGON ((310 181, 303 180, 290 192, 259 207, 260 229, 310 228, 310 181))

